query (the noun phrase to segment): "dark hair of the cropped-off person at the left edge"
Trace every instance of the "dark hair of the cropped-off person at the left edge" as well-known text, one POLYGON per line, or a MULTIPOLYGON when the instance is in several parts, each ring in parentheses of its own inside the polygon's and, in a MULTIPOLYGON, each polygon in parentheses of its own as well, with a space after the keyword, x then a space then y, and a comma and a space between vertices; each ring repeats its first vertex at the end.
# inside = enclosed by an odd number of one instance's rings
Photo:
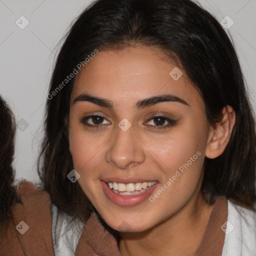
POLYGON ((19 202, 15 188, 14 155, 15 119, 7 103, 0 96, 0 231, 11 217, 11 209, 19 202))

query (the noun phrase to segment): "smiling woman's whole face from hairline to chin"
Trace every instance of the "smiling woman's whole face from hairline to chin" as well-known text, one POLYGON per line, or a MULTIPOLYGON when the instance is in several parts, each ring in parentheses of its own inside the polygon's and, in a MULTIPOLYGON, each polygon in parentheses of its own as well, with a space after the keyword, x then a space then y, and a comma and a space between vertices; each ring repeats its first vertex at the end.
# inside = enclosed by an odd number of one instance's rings
POLYGON ((143 231, 186 205, 200 189, 208 138, 202 98, 159 51, 99 51, 76 76, 74 169, 114 229, 143 231))

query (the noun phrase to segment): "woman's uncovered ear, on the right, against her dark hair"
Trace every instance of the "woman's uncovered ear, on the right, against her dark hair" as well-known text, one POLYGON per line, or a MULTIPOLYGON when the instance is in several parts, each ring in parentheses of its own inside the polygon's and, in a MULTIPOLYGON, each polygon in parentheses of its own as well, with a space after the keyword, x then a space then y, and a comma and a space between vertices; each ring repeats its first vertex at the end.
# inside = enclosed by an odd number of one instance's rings
POLYGON ((235 123, 235 112, 233 108, 226 105, 222 108, 222 120, 216 123, 216 127, 211 127, 208 136, 205 156, 216 158, 223 153, 230 139, 231 132, 235 123))

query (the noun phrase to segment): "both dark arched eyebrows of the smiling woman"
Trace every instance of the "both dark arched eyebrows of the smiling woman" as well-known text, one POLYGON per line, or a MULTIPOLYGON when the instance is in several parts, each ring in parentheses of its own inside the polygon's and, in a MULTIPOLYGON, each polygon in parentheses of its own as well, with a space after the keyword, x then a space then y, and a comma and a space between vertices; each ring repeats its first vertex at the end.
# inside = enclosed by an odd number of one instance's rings
MULTIPOLYGON (((106 98, 92 96, 92 95, 89 95, 86 93, 82 93, 79 96, 77 96, 73 100, 73 104, 78 101, 89 101, 91 103, 97 104, 102 107, 107 107, 110 109, 113 108, 113 103, 111 100, 108 100, 106 98)), ((137 101, 136 108, 141 109, 141 108, 145 108, 147 106, 151 106, 151 105, 155 105, 160 102, 167 102, 167 101, 179 102, 179 103, 189 106, 189 104, 180 97, 177 97, 172 94, 163 94, 163 95, 156 95, 156 96, 144 98, 144 99, 137 101)))

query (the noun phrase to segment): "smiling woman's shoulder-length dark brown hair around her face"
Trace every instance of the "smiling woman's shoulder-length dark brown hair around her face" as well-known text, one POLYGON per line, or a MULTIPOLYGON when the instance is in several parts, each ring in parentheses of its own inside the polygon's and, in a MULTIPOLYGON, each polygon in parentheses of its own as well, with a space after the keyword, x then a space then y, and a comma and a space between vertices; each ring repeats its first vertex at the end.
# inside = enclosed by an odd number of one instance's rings
POLYGON ((52 73, 38 160, 38 173, 52 202, 84 221, 91 212, 78 182, 67 178, 73 169, 67 133, 74 78, 64 85, 63 81, 95 49, 118 49, 136 43, 176 56, 199 90, 211 125, 221 119, 224 106, 233 107, 236 120, 230 141, 220 156, 205 158, 201 189, 208 203, 213 203, 216 195, 226 195, 234 203, 253 209, 254 119, 241 68, 222 26, 190 0, 97 0, 72 24, 52 73))

